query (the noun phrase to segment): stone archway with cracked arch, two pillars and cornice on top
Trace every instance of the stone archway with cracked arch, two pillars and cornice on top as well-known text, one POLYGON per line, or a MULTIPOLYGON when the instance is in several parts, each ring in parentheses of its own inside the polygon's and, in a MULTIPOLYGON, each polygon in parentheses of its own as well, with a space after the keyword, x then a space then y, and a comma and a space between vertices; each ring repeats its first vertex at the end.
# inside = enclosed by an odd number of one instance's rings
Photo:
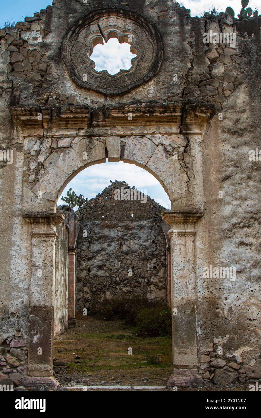
POLYGON ((203 384, 197 375, 194 237, 204 210, 202 138, 210 114, 206 107, 182 108, 171 103, 98 110, 73 106, 12 109, 25 143, 23 218, 31 226, 29 376, 52 376, 54 242, 56 226, 64 219, 55 212, 58 196, 79 171, 108 158, 150 171, 171 199, 171 212, 163 213, 171 227, 171 304, 175 310, 174 372, 169 384, 203 384), (37 159, 30 156, 32 147, 39 147, 37 159))

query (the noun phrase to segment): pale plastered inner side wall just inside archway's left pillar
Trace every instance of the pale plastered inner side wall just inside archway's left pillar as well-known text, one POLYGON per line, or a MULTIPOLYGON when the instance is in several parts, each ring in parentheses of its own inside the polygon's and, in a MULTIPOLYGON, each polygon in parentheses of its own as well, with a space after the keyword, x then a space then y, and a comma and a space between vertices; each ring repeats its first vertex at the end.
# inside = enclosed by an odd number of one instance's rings
POLYGON ((54 282, 54 335, 68 328, 68 232, 62 222, 56 229, 54 282))

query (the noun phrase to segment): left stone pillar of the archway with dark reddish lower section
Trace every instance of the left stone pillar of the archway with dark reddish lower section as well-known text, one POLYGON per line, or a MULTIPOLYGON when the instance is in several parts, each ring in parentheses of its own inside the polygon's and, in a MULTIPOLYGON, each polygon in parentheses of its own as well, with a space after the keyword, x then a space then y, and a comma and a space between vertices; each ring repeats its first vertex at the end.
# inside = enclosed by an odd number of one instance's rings
POLYGON ((23 214, 31 224, 28 375, 52 376, 55 226, 61 213, 23 214))

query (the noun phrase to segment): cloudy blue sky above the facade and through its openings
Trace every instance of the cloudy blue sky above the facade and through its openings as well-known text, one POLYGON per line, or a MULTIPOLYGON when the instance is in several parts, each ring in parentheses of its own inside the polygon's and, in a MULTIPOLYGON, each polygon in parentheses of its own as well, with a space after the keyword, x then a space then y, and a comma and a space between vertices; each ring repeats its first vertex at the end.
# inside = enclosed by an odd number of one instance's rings
MULTIPOLYGON (((261 5, 258 5, 259 2, 260 0, 250 0, 248 6, 252 9, 258 8, 259 6, 261 12, 261 5)), ((184 0, 179 3, 191 9, 191 16, 200 16, 204 11, 213 8, 215 5, 211 0, 184 0)), ((8 2, 6 0, 0 0, 0 27, 3 27, 4 23, 8 20, 15 22, 23 21, 26 16, 33 16, 34 12, 39 12, 48 5, 52 5, 52 1, 12 0, 8 2)), ((225 10, 228 5, 235 10, 236 14, 239 13, 241 8, 240 0, 230 0, 229 2, 227 0, 220 0, 216 7, 219 10, 225 10)), ((97 71, 107 69, 110 74, 115 74, 119 69, 130 68, 130 60, 134 55, 130 53, 129 49, 129 44, 119 44, 117 40, 111 39, 106 45, 97 45, 94 48, 91 59, 95 61, 97 71)), ((106 162, 86 168, 70 181, 62 195, 65 195, 67 189, 72 187, 75 193, 81 193, 90 200, 98 193, 101 193, 106 186, 109 186, 110 180, 114 181, 115 179, 119 181, 124 180, 129 186, 135 186, 137 189, 142 189, 142 191, 147 190, 145 193, 152 199, 155 199, 155 201, 166 208, 170 206, 167 194, 152 174, 134 164, 123 162, 106 162)), ((58 204, 62 203, 62 200, 59 199, 58 204)))

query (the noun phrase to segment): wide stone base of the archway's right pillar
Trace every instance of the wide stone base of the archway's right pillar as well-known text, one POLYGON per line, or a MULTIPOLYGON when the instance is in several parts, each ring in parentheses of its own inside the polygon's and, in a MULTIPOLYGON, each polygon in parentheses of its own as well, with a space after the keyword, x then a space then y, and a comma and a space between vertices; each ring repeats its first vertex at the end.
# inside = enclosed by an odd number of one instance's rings
POLYGON ((198 374, 197 369, 174 369, 167 385, 169 387, 202 387, 206 383, 198 374))

